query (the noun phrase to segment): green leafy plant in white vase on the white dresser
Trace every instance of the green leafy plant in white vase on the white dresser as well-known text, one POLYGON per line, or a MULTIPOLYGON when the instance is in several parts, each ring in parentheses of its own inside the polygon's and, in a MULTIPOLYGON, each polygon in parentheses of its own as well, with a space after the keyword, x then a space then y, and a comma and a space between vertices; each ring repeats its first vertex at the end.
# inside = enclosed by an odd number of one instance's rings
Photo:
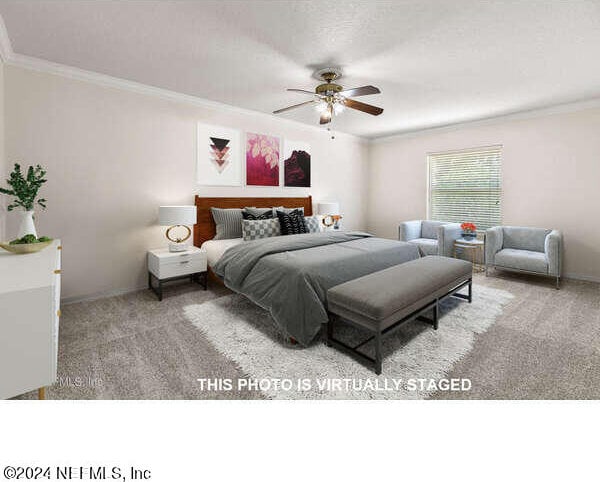
POLYGON ((21 171, 21 166, 17 163, 10 173, 10 177, 6 180, 9 188, 0 187, 0 193, 13 196, 11 203, 7 206, 9 211, 19 207, 23 209, 18 238, 11 241, 9 245, 2 245, 3 248, 13 252, 34 252, 39 251, 52 241, 45 236, 37 237, 33 218, 33 209, 36 205, 46 209, 46 200, 37 199, 39 190, 45 182, 46 171, 42 166, 29 166, 26 174, 24 174, 21 171))

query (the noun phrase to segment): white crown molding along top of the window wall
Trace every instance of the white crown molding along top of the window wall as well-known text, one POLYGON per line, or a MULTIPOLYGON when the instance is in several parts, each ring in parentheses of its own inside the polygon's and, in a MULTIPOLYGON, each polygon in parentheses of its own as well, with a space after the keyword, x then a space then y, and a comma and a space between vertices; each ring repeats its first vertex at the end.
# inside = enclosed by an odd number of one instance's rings
POLYGON ((385 136, 372 137, 369 139, 370 144, 384 144, 397 139, 410 139, 430 134, 441 134, 444 132, 452 132, 466 127, 478 127, 497 124, 499 122, 508 122, 514 120, 534 119, 536 117, 545 117, 555 114, 566 114, 570 112, 579 112, 587 109, 595 109, 600 107, 600 98, 578 100, 573 102, 565 102, 537 109, 520 110, 507 114, 499 114, 496 116, 484 117, 467 121, 453 122, 440 126, 427 127, 425 129, 414 129, 410 131, 398 132, 385 136))

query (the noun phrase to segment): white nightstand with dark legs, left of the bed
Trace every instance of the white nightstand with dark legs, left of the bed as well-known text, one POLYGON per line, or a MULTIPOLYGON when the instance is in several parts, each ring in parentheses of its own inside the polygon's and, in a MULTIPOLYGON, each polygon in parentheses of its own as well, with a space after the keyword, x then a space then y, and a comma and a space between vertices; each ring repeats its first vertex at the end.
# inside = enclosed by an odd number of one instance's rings
POLYGON ((163 283, 186 277, 207 289, 205 250, 191 246, 178 253, 171 253, 169 248, 148 251, 148 288, 156 293, 159 301, 162 301, 163 283))

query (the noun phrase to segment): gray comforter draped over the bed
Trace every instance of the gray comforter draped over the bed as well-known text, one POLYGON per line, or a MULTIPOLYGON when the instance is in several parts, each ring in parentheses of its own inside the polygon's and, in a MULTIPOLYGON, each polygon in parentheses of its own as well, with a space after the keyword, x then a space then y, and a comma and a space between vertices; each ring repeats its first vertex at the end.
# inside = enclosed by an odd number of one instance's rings
POLYGON ((233 246, 214 272, 306 346, 328 321, 329 288, 418 257, 415 245, 365 233, 297 234, 233 246))

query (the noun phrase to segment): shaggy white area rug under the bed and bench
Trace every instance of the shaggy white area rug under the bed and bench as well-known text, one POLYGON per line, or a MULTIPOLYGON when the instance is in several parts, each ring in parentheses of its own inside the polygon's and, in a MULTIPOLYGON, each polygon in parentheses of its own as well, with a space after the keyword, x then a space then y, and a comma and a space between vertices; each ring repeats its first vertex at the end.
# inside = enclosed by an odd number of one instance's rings
MULTIPOLYGON (((437 331, 424 322, 406 323, 384 339, 380 376, 319 341, 308 348, 286 343, 270 315, 240 295, 190 305, 185 313, 219 352, 261 382, 269 398, 419 399, 444 388, 438 381, 471 350, 475 335, 494 323, 511 298, 506 291, 476 285, 472 304, 444 301, 437 331), (424 387, 429 380, 436 386, 424 387)), ((339 336, 356 343, 366 338, 351 328, 336 331, 339 336)), ((366 345, 365 351, 372 355, 370 348, 366 345)))

